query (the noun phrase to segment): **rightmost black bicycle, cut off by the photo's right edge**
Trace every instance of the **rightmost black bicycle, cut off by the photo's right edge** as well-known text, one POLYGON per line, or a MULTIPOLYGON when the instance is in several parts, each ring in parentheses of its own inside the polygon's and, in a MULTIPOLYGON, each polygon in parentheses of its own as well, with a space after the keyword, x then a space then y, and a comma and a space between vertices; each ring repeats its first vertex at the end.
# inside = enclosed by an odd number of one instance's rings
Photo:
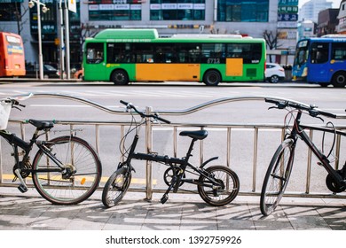
MULTIPOLYGON (((342 169, 334 169, 331 166, 329 157, 334 150, 334 143, 336 135, 346 136, 346 133, 336 130, 332 122, 328 122, 326 128, 318 128, 313 126, 306 126, 301 124, 303 113, 309 114, 311 117, 323 120, 320 116, 329 118, 338 118, 338 116, 331 112, 326 112, 318 109, 315 105, 303 105, 292 101, 282 101, 273 98, 266 98, 265 102, 274 104, 271 108, 287 109, 287 120, 293 120, 293 127, 290 128, 287 123, 287 134, 284 141, 279 145, 275 151, 268 170, 265 174, 263 187, 261 192, 261 213, 267 216, 271 214, 279 205, 280 199, 287 188, 290 174, 295 159, 295 146, 298 138, 302 139, 308 145, 311 151, 316 155, 319 162, 318 165, 324 167, 326 172, 326 187, 334 193, 340 193, 346 189, 346 163, 342 169), (325 155, 324 149, 319 151, 316 145, 311 141, 311 138, 305 133, 305 129, 318 130, 323 133, 323 142, 326 133, 334 134, 334 143, 329 152, 325 155)), ((343 118, 343 117, 342 117, 343 118)), ((285 121, 289 122, 289 121, 285 121)), ((323 146, 322 146, 323 147, 323 146)))

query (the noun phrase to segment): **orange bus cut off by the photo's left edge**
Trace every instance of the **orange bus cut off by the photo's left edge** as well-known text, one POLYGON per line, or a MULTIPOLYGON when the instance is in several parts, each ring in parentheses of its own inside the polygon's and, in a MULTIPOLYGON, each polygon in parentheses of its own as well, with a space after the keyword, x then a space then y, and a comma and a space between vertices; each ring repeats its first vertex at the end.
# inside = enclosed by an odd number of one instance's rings
POLYGON ((0 77, 25 74, 24 46, 20 35, 0 32, 0 77))

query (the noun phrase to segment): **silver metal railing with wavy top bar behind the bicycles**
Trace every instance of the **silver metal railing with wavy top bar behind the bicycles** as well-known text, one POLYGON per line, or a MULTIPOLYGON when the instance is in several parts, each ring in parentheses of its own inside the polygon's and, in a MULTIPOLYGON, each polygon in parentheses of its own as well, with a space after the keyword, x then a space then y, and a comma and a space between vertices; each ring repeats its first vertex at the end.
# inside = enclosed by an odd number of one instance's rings
MULTIPOLYGON (((102 110, 104 112, 110 113, 110 114, 120 114, 120 115, 127 115, 130 114, 129 112, 124 112, 124 111, 114 111, 112 109, 106 108, 103 105, 99 105, 98 103, 91 102, 87 99, 79 98, 79 97, 72 97, 72 96, 67 96, 67 95, 59 95, 59 94, 35 94, 33 97, 58 97, 58 98, 64 98, 64 99, 69 99, 69 100, 74 100, 79 103, 85 104, 85 105, 90 105, 92 107, 98 108, 99 110, 102 110)), ((191 114, 193 112, 199 112, 202 109, 206 109, 208 107, 214 106, 214 105, 222 105, 226 103, 232 103, 232 102, 238 102, 238 101, 263 101, 265 97, 226 97, 226 98, 221 98, 221 99, 216 99, 214 101, 207 102, 202 105, 197 105, 192 108, 183 110, 183 111, 155 111, 160 113, 160 115, 176 115, 176 116, 182 116, 182 115, 187 115, 191 114)), ((271 97, 272 98, 272 97, 271 97)), ((283 99, 285 100, 285 99, 283 99)), ((292 101, 292 100, 290 100, 292 101)), ((295 102, 295 101, 293 101, 295 102)), ((151 107, 146 107, 145 109, 146 113, 151 113, 153 112, 153 109, 151 107)), ((341 116, 340 118, 344 118, 344 116, 341 116)), ((20 131, 21 131, 21 136, 25 137, 25 121, 20 121, 20 120, 10 120, 11 122, 14 123, 19 123, 20 124, 20 131)), ((95 137, 95 143, 94 146, 96 147, 96 150, 98 153, 102 152, 100 148, 100 143, 102 138, 100 137, 100 132, 99 129, 100 127, 103 126, 111 126, 111 127, 118 127, 120 128, 120 138, 122 138, 125 134, 125 128, 127 126, 130 126, 130 122, 126 121, 64 121, 64 120, 56 120, 57 125, 68 125, 70 129, 74 129, 75 126, 91 126, 94 129, 94 137, 95 137)), ((177 157, 177 150, 178 150, 178 142, 177 142, 177 130, 180 128, 220 128, 223 129, 226 133, 225 136, 225 143, 226 143, 226 154, 225 154, 225 165, 227 167, 231 167, 231 159, 232 159, 232 131, 233 130, 240 130, 240 132, 253 132, 253 139, 252 139, 252 165, 251 167, 247 168, 246 170, 249 172, 248 175, 251 175, 251 178, 247 178, 250 182, 248 183, 248 188, 240 188, 240 195, 251 195, 251 196, 258 196, 260 194, 260 187, 258 187, 258 184, 262 183, 262 180, 258 180, 258 174, 259 174, 259 167, 258 167, 258 159, 259 159, 259 147, 262 147, 262 144, 259 144, 259 133, 263 132, 265 130, 276 130, 279 132, 280 139, 282 140, 285 136, 285 127, 283 125, 266 125, 266 124, 204 124, 204 123, 172 123, 169 125, 165 124, 165 127, 171 128, 173 132, 173 156, 177 157)), ((152 151, 153 149, 153 131, 155 128, 160 127, 157 124, 151 123, 150 121, 147 122, 146 127, 145 127, 145 151, 152 151)), ((345 129, 346 126, 342 127, 337 127, 338 129, 345 129)), ((314 135, 314 132, 311 130, 310 131, 310 136, 312 137, 314 135)), ((202 140, 200 142, 200 156, 199 160, 200 162, 203 161, 204 159, 204 141, 202 140)), ((275 143, 275 146, 279 145, 279 143, 275 143)), ((341 142, 341 136, 337 135, 336 136, 336 145, 335 145, 335 161, 334 161, 334 166, 335 168, 339 167, 339 157, 341 155, 341 147, 342 147, 342 142, 341 142)), ((124 149, 122 147, 122 149, 124 149)), ((248 149, 249 151, 249 149, 248 149)), ((217 154, 216 154, 217 155, 217 154)), ((270 154, 270 157, 272 154, 270 154)), ((1 147, 0 143, 0 186, 13 186, 16 185, 14 183, 7 183, 4 182, 3 178, 3 149, 1 147)), ((269 158, 271 159, 271 158, 269 158)), ((334 195, 331 194, 330 192, 325 192, 325 193, 316 193, 313 192, 311 193, 311 161, 312 161, 312 154, 311 151, 308 151, 307 154, 307 167, 306 167, 306 179, 305 179, 305 187, 302 192, 287 192, 285 195, 290 196, 290 197, 311 197, 311 198, 346 198, 346 195, 341 194, 341 195, 334 195)), ((103 163, 103 166, 105 164, 103 163)), ((268 164, 266 164, 268 166, 268 164)), ((234 166, 232 166, 234 167, 234 166)), ((234 170, 237 171, 237 167, 234 167, 234 170)), ((266 167, 263 169, 266 170, 266 167)), ((263 173, 261 171, 261 173, 263 173)), ((291 178, 292 180, 292 178, 291 178)), ((240 180, 240 185, 241 185, 241 180, 240 180)), ((138 191, 145 191, 145 195, 147 199, 151 199, 153 197, 153 192, 163 192, 166 189, 153 189, 153 166, 151 161, 146 161, 145 164, 145 188, 130 188, 130 190, 138 190, 138 191)))

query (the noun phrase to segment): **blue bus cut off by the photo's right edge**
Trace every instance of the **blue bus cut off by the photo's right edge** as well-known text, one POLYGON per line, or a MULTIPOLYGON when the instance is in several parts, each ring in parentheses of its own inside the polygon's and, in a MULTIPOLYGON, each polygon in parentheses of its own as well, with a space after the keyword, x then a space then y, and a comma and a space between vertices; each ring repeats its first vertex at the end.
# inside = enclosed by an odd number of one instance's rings
POLYGON ((292 75, 294 81, 345 87, 346 35, 326 35, 299 41, 292 75))

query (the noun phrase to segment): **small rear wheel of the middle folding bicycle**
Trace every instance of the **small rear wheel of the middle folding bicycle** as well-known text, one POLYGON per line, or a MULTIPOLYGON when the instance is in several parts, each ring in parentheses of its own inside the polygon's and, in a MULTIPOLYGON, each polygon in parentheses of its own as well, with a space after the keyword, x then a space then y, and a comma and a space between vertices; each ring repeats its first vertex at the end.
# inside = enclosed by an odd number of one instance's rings
POLYGON ((216 206, 226 205, 237 197, 240 190, 240 181, 238 175, 232 169, 223 166, 213 166, 208 167, 206 172, 210 178, 218 183, 216 185, 209 178, 200 175, 197 189, 206 203, 216 206))

